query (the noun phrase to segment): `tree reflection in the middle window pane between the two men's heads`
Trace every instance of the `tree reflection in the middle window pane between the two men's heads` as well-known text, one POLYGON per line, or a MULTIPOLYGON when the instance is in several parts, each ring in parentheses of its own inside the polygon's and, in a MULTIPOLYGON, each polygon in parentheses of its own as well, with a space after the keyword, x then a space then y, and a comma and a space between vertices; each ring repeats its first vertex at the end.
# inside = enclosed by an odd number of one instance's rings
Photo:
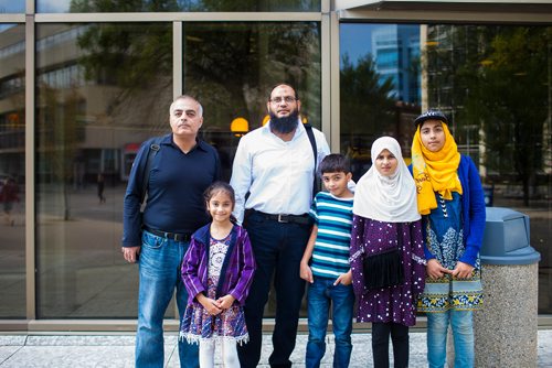
POLYGON ((302 116, 320 127, 319 34, 317 22, 184 24, 184 90, 204 107, 204 139, 219 149, 223 178, 240 137, 262 126, 273 85, 294 85, 302 116), (236 118, 245 131, 231 129, 236 118))

